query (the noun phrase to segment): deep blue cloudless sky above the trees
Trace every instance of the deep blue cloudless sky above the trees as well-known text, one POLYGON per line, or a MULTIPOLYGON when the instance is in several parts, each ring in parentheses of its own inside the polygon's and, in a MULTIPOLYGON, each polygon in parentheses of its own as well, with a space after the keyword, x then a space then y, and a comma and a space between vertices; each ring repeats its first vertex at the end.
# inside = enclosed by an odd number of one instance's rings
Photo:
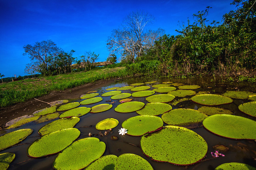
POLYGON ((221 21, 225 13, 236 10, 232 0, 0 0, 0 73, 5 77, 24 76, 23 46, 51 39, 58 47, 79 58, 86 51, 99 54, 97 62, 109 55, 106 40, 123 19, 137 10, 154 16, 149 29, 162 28, 177 35, 179 21, 193 20, 193 14, 212 8, 208 20, 221 21))

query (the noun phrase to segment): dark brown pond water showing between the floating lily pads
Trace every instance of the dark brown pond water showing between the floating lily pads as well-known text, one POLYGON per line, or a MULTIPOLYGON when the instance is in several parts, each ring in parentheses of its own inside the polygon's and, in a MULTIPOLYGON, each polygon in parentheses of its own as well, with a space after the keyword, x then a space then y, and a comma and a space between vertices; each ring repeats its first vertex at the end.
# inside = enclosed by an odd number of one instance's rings
MULTIPOLYGON (((241 83, 241 82, 225 82, 219 79, 219 81, 214 81, 213 78, 194 78, 194 79, 155 79, 158 81, 157 83, 154 84, 159 84, 163 81, 172 81, 172 82, 177 82, 177 83, 183 83, 186 85, 200 85, 201 88, 196 89, 195 91, 209 91, 212 94, 222 94, 223 92, 227 90, 240 90, 240 91, 251 91, 251 92, 256 92, 256 84, 252 83, 241 83)), ((148 79, 127 79, 127 80, 121 80, 116 83, 113 83, 111 85, 108 85, 106 87, 102 87, 98 90, 98 93, 101 95, 104 92, 107 92, 105 90, 106 88, 110 87, 123 87, 127 86, 131 83, 141 83, 141 82, 147 82, 147 81, 155 81, 155 80, 148 80, 148 79)), ((154 84, 151 84, 154 85, 154 84)), ((152 90, 154 88, 151 87, 152 90)), ((81 91, 81 95, 84 94, 86 91, 81 91)), ((130 92, 130 90, 124 90, 122 92, 130 92)), ((160 93, 155 93, 155 94, 160 94, 160 93)), ((190 96, 191 97, 191 96, 190 96)), ((91 104, 91 105, 81 105, 81 106, 86 106, 86 107, 92 107, 98 104, 102 103, 110 103, 106 102, 110 100, 110 97, 102 97, 103 100, 101 102, 91 104)), ((133 97, 130 97, 133 98, 133 97)), ((142 98, 133 98, 133 101, 141 101, 144 103, 148 103, 145 100, 146 97, 142 98)), ((188 98, 188 97, 186 97, 188 98)), ((175 100, 181 99, 181 97, 176 97, 175 100)), ((78 100, 80 102, 82 100, 78 100)), ((109 154, 114 154, 114 155, 121 155, 123 153, 133 153, 137 154, 144 159, 146 159, 155 170, 162 170, 162 169, 173 169, 173 170, 181 170, 181 169, 190 169, 190 170, 201 170, 201 169, 208 169, 208 170, 213 170, 216 168, 218 165, 221 165, 223 163, 229 163, 229 162, 239 162, 239 163, 245 163, 249 164, 251 166, 256 167, 256 142, 254 140, 234 140, 234 139, 228 139, 224 137, 220 137, 217 135, 214 135, 213 133, 207 131, 204 127, 197 128, 197 129, 192 129, 194 132, 198 133, 200 136, 202 136, 205 141, 208 143, 208 152, 206 157, 199 163, 190 165, 190 166, 176 166, 172 165, 169 163, 159 163, 152 161, 150 158, 146 157, 140 148, 140 137, 134 137, 134 136, 129 136, 129 135, 118 135, 118 130, 122 127, 123 121, 126 119, 133 117, 133 116, 138 116, 136 112, 132 113, 117 113, 114 111, 114 108, 119 104, 119 100, 112 100, 116 101, 113 103, 113 107, 105 112, 102 113, 96 113, 96 114, 91 114, 88 113, 82 117, 80 117, 80 122, 76 124, 74 128, 77 128, 80 130, 81 135, 78 139, 86 138, 88 137, 88 134, 98 134, 96 137, 100 139, 100 141, 105 142, 106 144, 106 150, 104 155, 109 155, 109 154), (114 128, 110 134, 101 137, 99 134, 103 133, 104 131, 98 131, 95 128, 95 125, 106 118, 115 118, 119 121, 119 124, 116 128, 114 128), (89 127, 88 127, 89 126, 89 127), (110 139, 112 135, 118 136, 117 141, 113 141, 110 139), (132 144, 132 145, 131 145, 132 144), (214 152, 214 149, 212 148, 215 145, 225 145, 229 147, 229 151, 225 153, 225 157, 218 157, 214 158, 211 156, 211 152, 214 152)), ((220 106, 216 107, 222 107, 222 108, 227 108, 233 112, 234 115, 238 116, 243 116, 250 118, 252 120, 256 120, 256 118, 248 116, 242 112, 239 111, 238 105, 249 102, 249 100, 241 100, 241 99, 233 99, 233 102, 230 104, 223 104, 220 106)), ((171 102, 169 103, 171 104, 171 102)), ((191 101, 183 102, 182 105, 178 104, 176 106, 173 106, 173 109, 175 108, 193 108, 193 109, 198 109, 202 105, 196 104, 191 101)), ((161 116, 161 115, 160 115, 161 116)), ((57 154, 47 156, 44 158, 33 158, 31 159, 29 156, 27 156, 27 149, 31 143, 33 143, 36 139, 39 139, 40 136, 38 134, 38 130, 47 124, 49 122, 41 123, 41 124, 35 124, 35 123, 29 123, 26 124, 22 127, 16 128, 16 129, 11 129, 11 130, 6 130, 5 133, 18 130, 18 129, 24 129, 24 128, 31 128, 34 130, 34 132, 28 136, 23 142, 19 143, 20 145, 11 147, 9 149, 5 149, 1 151, 0 153, 5 153, 5 152, 13 152, 16 154, 16 157, 14 161, 10 164, 9 169, 10 170, 20 170, 20 169, 26 169, 26 170, 48 170, 48 169, 53 169, 52 164, 54 162, 54 159, 56 158, 57 154)), ((167 124, 164 124, 167 125, 167 124)), ((77 140, 78 140, 77 139, 77 140)), ((56 141, 58 142, 58 141, 56 141)))

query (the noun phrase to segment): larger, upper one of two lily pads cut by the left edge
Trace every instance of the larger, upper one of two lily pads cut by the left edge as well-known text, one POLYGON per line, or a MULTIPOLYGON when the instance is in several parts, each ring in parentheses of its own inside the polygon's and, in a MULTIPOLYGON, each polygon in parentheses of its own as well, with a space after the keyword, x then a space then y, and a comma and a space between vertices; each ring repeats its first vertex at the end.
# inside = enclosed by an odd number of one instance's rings
POLYGON ((20 129, 0 136, 0 151, 23 141, 32 132, 33 129, 20 129))

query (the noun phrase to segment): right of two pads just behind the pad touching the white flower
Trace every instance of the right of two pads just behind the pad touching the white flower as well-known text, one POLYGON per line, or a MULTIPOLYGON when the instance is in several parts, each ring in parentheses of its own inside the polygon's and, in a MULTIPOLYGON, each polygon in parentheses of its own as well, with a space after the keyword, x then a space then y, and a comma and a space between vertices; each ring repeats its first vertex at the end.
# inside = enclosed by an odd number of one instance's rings
POLYGON ((139 115, 157 116, 172 109, 172 106, 167 103, 147 103, 144 108, 136 111, 139 115))

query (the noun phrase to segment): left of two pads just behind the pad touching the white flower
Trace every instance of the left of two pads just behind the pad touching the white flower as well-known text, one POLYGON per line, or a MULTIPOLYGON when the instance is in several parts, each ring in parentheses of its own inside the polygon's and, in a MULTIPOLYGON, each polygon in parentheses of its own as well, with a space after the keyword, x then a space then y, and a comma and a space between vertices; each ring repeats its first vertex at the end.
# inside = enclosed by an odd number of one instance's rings
POLYGON ((120 113, 135 112, 141 109, 145 104, 143 102, 125 102, 116 106, 115 111, 120 113))

